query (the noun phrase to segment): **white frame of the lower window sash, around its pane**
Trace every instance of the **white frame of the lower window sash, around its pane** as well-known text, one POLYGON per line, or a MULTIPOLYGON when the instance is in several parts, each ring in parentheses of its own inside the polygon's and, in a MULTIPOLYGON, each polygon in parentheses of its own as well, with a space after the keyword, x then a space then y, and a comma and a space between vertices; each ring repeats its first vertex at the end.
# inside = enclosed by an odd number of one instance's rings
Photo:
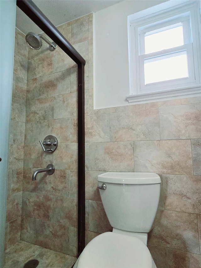
POLYGON ((139 88, 137 93, 145 93, 151 91, 158 91, 158 90, 166 90, 170 89, 173 85, 177 87, 179 86, 187 86, 191 85, 195 82, 195 75, 194 75, 194 62, 193 62, 193 45, 192 43, 185 44, 183 46, 178 46, 166 50, 162 50, 159 52, 153 52, 149 54, 144 54, 139 56, 139 88), (172 79, 167 81, 155 82, 145 85, 144 84, 144 59, 146 58, 154 58, 158 56, 163 56, 165 54, 173 54, 175 52, 180 51, 187 51, 187 65, 188 65, 188 77, 172 79))

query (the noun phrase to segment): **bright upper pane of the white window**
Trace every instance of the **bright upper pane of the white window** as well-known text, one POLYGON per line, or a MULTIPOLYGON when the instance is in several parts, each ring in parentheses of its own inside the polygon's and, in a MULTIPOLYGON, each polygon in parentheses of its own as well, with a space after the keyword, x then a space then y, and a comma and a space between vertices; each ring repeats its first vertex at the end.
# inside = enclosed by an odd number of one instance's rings
POLYGON ((164 30, 155 34, 144 36, 144 42, 145 54, 176 46, 182 46, 184 44, 182 25, 169 30, 164 30))

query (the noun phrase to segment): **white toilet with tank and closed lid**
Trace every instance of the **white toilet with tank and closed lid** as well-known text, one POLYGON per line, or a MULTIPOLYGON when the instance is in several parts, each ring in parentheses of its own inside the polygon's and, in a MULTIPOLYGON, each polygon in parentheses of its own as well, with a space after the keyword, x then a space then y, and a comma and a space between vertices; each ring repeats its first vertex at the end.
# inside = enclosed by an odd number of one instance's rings
POLYGON ((98 175, 101 200, 113 230, 92 239, 73 268, 156 268, 146 245, 158 208, 160 183, 155 173, 98 175))

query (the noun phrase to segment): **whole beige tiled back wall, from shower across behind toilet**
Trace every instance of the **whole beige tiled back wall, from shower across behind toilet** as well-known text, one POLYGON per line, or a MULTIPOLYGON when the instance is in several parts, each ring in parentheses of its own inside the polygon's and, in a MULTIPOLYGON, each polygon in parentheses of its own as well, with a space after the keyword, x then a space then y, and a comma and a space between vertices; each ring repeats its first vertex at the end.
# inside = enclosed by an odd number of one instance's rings
MULTIPOLYGON (((87 62, 86 243, 111 231, 97 175, 156 172, 162 179, 160 204, 148 235, 155 263, 160 268, 200 267, 201 98, 93 110, 92 16, 58 29, 87 62)), ((21 239, 76 255, 77 69, 59 48, 49 52, 46 47, 29 50, 21 239), (52 155, 38 144, 47 134, 59 140, 52 155), (53 175, 31 181, 36 168, 52 162, 53 175)))

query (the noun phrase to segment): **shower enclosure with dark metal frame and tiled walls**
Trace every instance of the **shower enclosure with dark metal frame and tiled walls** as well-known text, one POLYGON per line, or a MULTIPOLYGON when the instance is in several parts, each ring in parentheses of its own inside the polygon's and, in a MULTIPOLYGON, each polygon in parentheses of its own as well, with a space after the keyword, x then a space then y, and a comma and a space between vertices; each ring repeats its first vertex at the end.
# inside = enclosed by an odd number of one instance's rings
MULTIPOLYGON (((32 1, 17 5, 44 30, 43 40, 49 36, 57 48, 49 51, 44 42, 41 49, 26 53, 25 36, 17 32, 5 244, 9 248, 19 238, 21 224, 22 241, 77 256, 85 245, 85 60, 65 39, 69 23, 59 28, 64 37, 32 1), (57 136, 53 153, 39 144, 47 135, 57 136), (54 174, 40 173, 32 181, 35 170, 48 164, 54 164, 54 174)), ((74 46, 83 51, 79 41, 74 46)))

